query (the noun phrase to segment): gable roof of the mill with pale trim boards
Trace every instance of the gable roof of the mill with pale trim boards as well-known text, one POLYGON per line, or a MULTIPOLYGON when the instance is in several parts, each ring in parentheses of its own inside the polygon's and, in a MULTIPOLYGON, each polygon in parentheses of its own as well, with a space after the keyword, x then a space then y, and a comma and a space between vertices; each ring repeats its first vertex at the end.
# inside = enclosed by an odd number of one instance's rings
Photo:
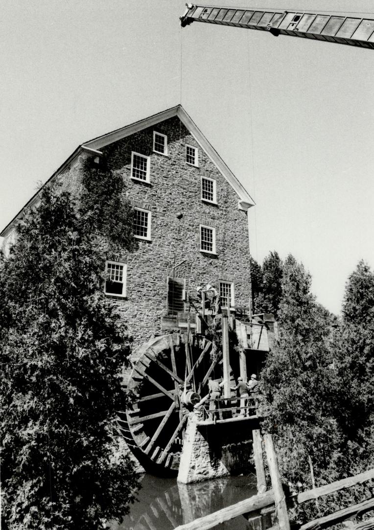
MULTIPOLYGON (((158 112, 157 114, 153 114, 153 116, 144 118, 139 121, 135 121, 134 123, 131 123, 130 125, 126 125, 125 127, 121 127, 120 129, 116 129, 112 131, 111 133, 107 133, 102 136, 98 136, 97 138, 94 138, 92 140, 88 140, 87 142, 84 142, 79 147, 77 147, 74 153, 72 153, 69 156, 69 158, 67 158, 67 160, 58 168, 58 170, 56 170, 50 176, 47 182, 43 184, 42 188, 44 188, 44 186, 47 185, 54 177, 62 173, 63 170, 65 170, 65 168, 72 161, 75 160, 75 158, 81 153, 81 151, 88 151, 90 153, 100 155, 102 154, 100 152, 100 149, 102 149, 106 145, 112 144, 113 142, 117 142, 117 140, 126 138, 127 136, 137 133, 138 131, 142 129, 146 129, 147 127, 152 127, 153 125, 156 125, 157 123, 160 123, 161 121, 168 120, 169 118, 172 118, 174 116, 177 116, 180 119, 180 121, 184 124, 184 126, 189 130, 190 134, 195 138, 196 142, 200 145, 200 147, 205 151, 205 153, 208 155, 208 157, 217 167, 218 171, 221 172, 221 174, 224 176, 227 182, 229 182, 231 187, 234 189, 234 191, 239 197, 239 208, 243 210, 247 210, 251 206, 254 206, 255 203, 253 199, 251 198, 251 196, 249 195, 249 193, 247 192, 247 190, 245 190, 245 188, 239 182, 239 180, 236 178, 233 172, 224 163, 221 156, 218 155, 214 147, 208 142, 208 140, 205 138, 203 133, 197 127, 196 123, 188 116, 187 112, 184 110, 184 108, 181 105, 176 105, 176 107, 171 107, 170 109, 164 110, 162 112, 158 112)), ((6 225, 6 227, 0 233, 0 236, 4 237, 6 233, 8 232, 8 230, 16 224, 17 220, 23 217, 23 211, 25 208, 33 206, 35 201, 38 200, 41 189, 38 190, 31 197, 31 199, 25 204, 25 206, 19 211, 19 213, 11 220, 11 222, 6 225)))

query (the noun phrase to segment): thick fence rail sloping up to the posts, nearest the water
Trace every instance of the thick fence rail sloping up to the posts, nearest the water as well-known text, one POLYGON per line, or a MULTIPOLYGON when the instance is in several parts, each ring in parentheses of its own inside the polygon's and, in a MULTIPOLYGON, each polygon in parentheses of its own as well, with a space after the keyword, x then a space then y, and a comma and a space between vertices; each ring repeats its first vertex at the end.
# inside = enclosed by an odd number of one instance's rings
POLYGON ((225 523, 235 517, 247 514, 250 511, 259 510, 271 504, 274 504, 274 493, 272 490, 269 490, 265 493, 254 495, 249 499, 236 502, 236 504, 215 511, 213 514, 199 517, 185 525, 177 526, 175 530, 209 530, 209 528, 225 523))

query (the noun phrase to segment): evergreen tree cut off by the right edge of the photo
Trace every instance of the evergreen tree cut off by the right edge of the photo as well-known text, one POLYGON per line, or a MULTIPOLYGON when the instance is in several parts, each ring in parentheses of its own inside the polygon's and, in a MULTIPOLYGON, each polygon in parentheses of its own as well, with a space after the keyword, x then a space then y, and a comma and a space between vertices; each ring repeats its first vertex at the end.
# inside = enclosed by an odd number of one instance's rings
POLYGON ((374 273, 360 261, 345 285, 336 336, 341 422, 350 473, 374 467, 374 273))

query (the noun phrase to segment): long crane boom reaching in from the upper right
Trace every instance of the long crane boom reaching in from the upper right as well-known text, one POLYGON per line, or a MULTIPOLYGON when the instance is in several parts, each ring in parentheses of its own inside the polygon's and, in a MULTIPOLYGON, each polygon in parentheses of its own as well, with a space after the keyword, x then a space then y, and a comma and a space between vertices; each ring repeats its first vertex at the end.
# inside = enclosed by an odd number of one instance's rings
POLYGON ((208 22, 270 31, 274 36, 289 35, 336 42, 361 48, 374 48, 374 20, 341 13, 305 13, 304 11, 263 11, 236 7, 186 4, 180 17, 182 27, 191 22, 208 22))

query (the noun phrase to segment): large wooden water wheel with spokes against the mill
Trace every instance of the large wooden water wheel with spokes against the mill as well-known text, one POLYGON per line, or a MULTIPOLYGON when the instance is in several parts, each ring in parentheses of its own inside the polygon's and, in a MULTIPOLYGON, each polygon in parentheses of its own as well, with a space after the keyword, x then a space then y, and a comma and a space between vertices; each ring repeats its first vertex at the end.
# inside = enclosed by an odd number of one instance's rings
POLYGON ((222 376, 221 354, 200 335, 174 333, 151 339, 135 351, 127 382, 136 400, 119 412, 118 425, 143 466, 178 470, 187 417, 207 394, 207 381, 222 376))

